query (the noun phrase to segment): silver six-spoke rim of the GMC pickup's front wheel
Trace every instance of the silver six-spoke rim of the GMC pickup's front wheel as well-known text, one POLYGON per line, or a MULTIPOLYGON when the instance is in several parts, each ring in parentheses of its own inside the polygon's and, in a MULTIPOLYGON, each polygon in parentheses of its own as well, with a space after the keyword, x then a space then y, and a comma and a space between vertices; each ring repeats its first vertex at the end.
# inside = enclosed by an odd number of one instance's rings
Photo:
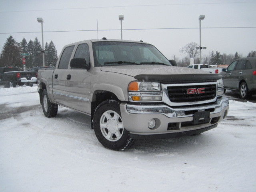
POLYGON ((122 118, 112 110, 104 112, 100 117, 100 131, 109 141, 119 140, 124 133, 122 118))

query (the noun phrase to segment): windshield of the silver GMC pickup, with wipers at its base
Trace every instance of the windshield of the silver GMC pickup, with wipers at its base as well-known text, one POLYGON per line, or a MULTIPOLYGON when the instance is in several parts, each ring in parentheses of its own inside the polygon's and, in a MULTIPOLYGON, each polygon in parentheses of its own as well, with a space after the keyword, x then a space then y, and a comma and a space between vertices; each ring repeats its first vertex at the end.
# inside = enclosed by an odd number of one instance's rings
POLYGON ((94 42, 92 46, 95 66, 132 64, 171 65, 166 57, 150 44, 106 41, 94 42))

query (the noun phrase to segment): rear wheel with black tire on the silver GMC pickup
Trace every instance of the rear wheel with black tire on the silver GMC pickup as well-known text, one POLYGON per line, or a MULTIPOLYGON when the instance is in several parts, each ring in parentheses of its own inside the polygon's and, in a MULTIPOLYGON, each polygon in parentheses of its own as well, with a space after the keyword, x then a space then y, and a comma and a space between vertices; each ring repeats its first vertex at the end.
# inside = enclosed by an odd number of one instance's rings
POLYGON ((48 118, 55 117, 58 113, 58 105, 50 102, 46 89, 42 92, 42 108, 44 116, 48 118))

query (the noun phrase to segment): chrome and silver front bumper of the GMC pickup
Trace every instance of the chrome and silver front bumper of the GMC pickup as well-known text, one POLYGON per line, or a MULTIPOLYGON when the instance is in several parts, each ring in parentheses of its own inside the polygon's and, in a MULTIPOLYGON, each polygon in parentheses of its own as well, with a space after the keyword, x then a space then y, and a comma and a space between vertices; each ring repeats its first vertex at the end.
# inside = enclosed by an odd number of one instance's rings
POLYGON ((156 105, 134 105, 120 104, 122 121, 126 130, 130 134, 154 135, 186 132, 200 130, 213 125, 217 125, 228 113, 228 98, 217 98, 213 104, 204 104, 200 106, 175 107, 164 104, 156 105), (193 112, 210 110, 210 122, 205 124, 192 125, 193 112), (157 119, 156 128, 148 128, 148 122, 151 119, 157 119), (168 124, 176 124, 176 129, 172 130, 168 124))

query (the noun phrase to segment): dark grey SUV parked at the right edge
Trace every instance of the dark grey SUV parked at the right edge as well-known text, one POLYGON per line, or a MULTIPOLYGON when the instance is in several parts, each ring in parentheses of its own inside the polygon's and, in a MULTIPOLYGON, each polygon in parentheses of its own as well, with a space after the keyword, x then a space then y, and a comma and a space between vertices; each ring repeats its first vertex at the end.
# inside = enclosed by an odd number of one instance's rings
POLYGON ((256 93, 256 57, 235 60, 220 74, 223 76, 224 91, 238 90, 242 99, 256 93))

